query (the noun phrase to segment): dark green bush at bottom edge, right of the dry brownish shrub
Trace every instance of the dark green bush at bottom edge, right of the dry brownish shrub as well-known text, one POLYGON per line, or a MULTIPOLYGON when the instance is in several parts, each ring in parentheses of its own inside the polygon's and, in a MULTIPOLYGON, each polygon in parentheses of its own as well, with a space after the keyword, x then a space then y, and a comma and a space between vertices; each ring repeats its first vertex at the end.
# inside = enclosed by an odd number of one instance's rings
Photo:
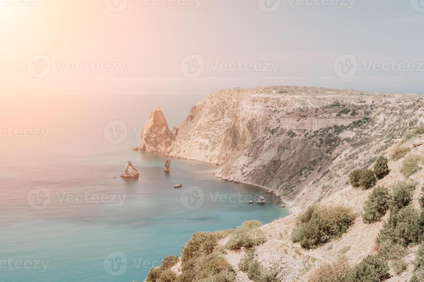
POLYGON ((368 255, 348 275, 346 282, 380 282, 390 277, 384 257, 368 255))

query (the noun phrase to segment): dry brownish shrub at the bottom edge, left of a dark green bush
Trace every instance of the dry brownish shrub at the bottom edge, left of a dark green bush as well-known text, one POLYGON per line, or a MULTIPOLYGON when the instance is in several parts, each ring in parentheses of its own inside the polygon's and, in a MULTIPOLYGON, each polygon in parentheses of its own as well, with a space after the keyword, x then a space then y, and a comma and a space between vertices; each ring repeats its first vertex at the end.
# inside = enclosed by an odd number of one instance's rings
POLYGON ((324 263, 315 269, 308 282, 344 282, 351 271, 346 257, 339 257, 335 263, 324 263))

